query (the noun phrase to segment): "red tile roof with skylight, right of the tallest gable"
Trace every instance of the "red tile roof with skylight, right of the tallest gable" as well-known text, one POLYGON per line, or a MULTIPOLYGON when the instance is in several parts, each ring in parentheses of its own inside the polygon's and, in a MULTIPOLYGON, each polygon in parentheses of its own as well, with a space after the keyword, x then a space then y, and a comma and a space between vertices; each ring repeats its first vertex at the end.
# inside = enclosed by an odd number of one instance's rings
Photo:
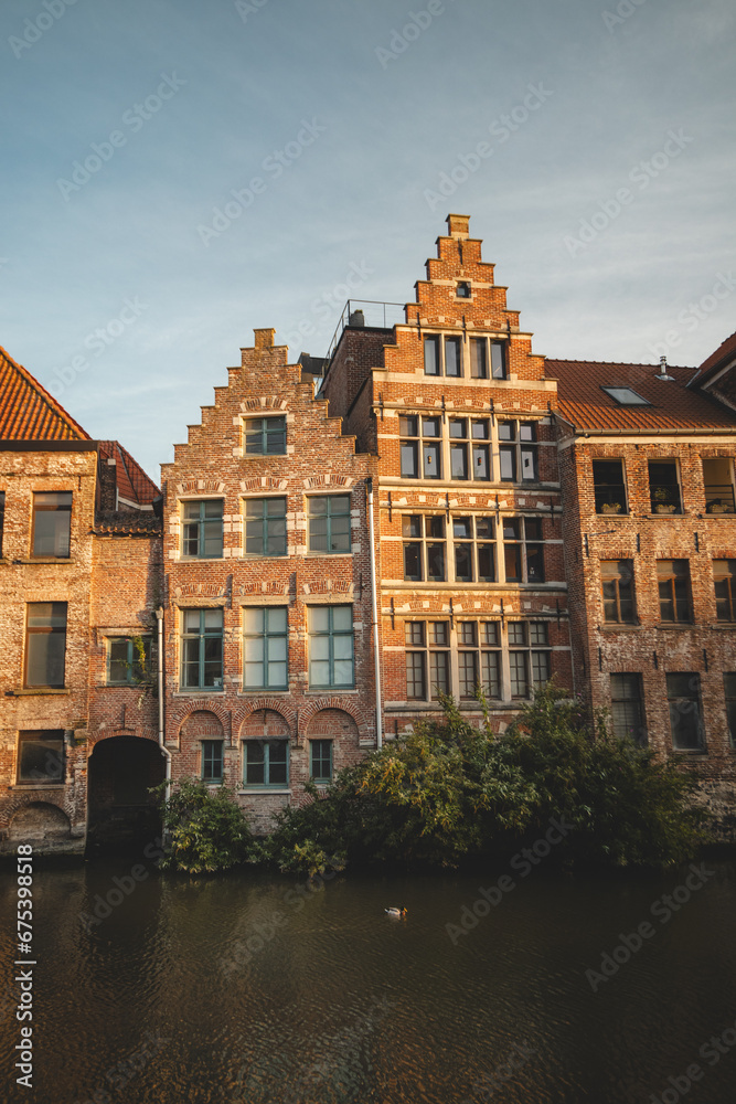
POLYGON ((729 428, 736 413, 686 385, 693 368, 673 368, 673 380, 655 379, 655 364, 607 364, 589 360, 547 360, 545 373, 556 379, 559 413, 580 429, 729 428), (651 406, 621 406, 602 388, 631 388, 651 406))

